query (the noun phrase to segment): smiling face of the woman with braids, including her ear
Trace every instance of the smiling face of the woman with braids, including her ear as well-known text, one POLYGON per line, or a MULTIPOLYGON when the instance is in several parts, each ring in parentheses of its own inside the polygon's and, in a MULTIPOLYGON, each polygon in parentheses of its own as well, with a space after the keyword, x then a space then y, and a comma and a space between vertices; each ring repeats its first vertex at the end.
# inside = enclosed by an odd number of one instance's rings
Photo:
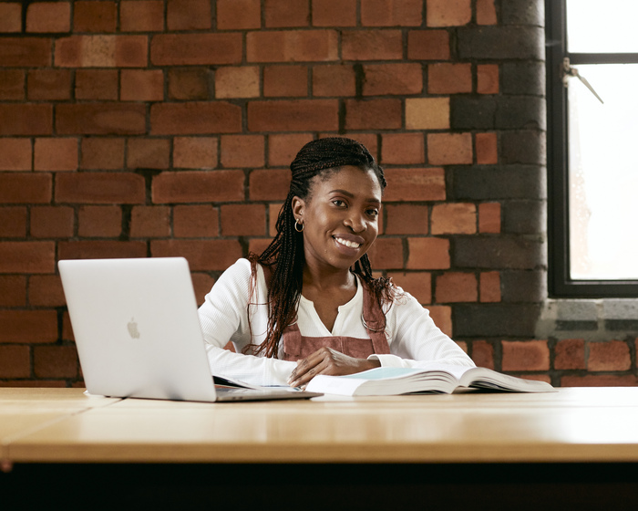
POLYGON ((313 178, 306 199, 294 197, 304 224, 306 265, 348 269, 376 240, 381 185, 375 172, 345 166, 313 178))

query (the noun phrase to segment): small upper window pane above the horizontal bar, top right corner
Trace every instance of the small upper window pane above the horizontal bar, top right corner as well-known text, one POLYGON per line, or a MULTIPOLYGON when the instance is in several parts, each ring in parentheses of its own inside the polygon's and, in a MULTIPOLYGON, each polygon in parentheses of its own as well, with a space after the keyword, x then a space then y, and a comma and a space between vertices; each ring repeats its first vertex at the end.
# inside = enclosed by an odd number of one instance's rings
POLYGON ((571 53, 638 53, 636 0, 567 0, 571 53))

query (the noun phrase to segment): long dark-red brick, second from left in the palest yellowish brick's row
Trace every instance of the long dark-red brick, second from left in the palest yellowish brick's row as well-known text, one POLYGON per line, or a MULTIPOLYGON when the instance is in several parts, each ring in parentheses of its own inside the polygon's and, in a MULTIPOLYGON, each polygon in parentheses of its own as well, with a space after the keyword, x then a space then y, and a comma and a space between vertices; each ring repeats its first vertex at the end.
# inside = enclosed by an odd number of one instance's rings
POLYGON ((146 109, 132 103, 60 104, 56 107, 60 135, 136 135, 146 132, 146 109))

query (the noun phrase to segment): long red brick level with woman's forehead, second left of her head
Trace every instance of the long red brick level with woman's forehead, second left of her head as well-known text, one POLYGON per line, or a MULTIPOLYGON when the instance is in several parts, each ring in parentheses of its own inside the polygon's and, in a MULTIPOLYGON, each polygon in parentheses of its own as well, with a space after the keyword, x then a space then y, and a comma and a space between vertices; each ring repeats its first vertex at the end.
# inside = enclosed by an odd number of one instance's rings
POLYGON ((153 178, 153 203, 243 201, 242 171, 162 172, 153 178))

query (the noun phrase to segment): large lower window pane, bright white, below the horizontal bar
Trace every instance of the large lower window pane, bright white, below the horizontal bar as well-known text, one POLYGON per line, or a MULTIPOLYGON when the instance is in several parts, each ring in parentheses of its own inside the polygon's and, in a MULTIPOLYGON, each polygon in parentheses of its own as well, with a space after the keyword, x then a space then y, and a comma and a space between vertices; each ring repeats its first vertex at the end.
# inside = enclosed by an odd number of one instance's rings
POLYGON ((638 65, 578 66, 569 81, 571 278, 638 279, 638 65))

